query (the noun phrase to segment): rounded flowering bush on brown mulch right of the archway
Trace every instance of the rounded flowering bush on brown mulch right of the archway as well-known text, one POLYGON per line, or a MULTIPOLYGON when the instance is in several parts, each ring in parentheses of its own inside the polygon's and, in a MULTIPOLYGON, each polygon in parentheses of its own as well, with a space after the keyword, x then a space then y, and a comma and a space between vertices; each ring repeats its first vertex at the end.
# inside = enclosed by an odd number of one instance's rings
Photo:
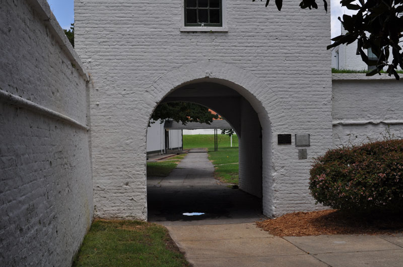
POLYGON ((309 189, 333 209, 403 211, 403 140, 327 151, 312 165, 309 189))

